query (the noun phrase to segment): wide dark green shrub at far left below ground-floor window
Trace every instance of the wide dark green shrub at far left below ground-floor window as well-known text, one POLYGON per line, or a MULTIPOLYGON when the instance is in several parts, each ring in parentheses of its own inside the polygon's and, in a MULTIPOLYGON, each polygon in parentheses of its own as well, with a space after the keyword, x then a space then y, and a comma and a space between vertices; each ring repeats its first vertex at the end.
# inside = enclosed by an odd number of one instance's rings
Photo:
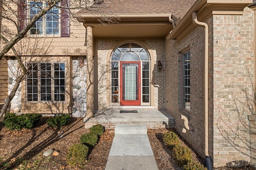
POLYGON ((3 124, 9 130, 20 130, 22 128, 30 129, 40 121, 41 117, 42 115, 40 114, 16 115, 14 113, 8 113, 6 114, 3 124))

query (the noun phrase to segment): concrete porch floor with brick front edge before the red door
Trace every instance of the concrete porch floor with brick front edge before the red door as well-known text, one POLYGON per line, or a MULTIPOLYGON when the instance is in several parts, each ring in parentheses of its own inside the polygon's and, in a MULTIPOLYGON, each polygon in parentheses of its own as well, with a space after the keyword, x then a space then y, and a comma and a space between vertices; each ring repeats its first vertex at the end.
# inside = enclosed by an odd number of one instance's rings
POLYGON ((136 109, 138 113, 120 113, 119 109, 99 110, 94 117, 84 118, 85 128, 101 124, 106 129, 112 129, 116 124, 146 124, 147 128, 172 128, 174 117, 166 110, 136 109))

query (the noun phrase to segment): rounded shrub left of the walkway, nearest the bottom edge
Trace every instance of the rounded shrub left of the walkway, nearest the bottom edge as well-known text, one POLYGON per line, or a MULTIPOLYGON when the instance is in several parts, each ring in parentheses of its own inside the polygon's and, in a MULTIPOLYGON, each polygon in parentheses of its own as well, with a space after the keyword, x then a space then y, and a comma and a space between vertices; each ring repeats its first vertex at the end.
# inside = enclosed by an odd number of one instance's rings
POLYGON ((68 150, 67 163, 70 166, 82 166, 86 162, 88 150, 88 147, 81 143, 72 145, 68 150))

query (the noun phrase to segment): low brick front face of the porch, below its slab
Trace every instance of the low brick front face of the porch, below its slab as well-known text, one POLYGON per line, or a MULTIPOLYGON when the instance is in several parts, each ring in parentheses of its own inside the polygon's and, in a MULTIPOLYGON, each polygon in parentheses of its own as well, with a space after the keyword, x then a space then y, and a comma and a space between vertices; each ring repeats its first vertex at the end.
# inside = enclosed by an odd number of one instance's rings
MULTIPOLYGON (((174 122, 157 122, 157 121, 150 121, 150 122, 122 122, 126 124, 146 124, 147 128, 150 129, 159 129, 159 128, 173 128, 174 127, 174 122)), ((93 125, 101 124, 103 125, 106 129, 113 129, 116 124, 120 124, 120 122, 85 122, 85 128, 90 128, 93 125)))

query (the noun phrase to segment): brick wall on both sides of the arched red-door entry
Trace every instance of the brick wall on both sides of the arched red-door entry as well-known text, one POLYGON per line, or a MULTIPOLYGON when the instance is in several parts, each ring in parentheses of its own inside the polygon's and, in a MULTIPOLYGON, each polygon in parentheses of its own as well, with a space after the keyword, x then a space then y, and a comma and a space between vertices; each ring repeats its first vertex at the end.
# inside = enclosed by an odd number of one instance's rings
MULTIPOLYGON (((107 108, 107 77, 106 77, 106 59, 108 49, 115 43, 113 40, 98 40, 98 109, 107 108)), ((154 56, 154 102, 155 109, 165 108, 165 49, 164 40, 146 40, 145 41, 152 49, 154 56), (163 69, 157 69, 157 61, 161 59, 163 69)), ((153 94, 152 94, 153 95, 153 94)))

